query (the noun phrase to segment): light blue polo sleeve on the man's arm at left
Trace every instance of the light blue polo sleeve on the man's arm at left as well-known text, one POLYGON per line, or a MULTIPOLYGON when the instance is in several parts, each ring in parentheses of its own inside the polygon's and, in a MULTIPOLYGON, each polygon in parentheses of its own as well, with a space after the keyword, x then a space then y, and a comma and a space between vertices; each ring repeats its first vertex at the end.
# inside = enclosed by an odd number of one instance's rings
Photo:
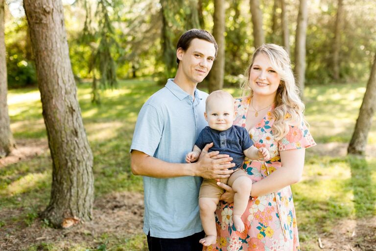
POLYGON ((137 118, 131 151, 142 151, 154 156, 161 141, 163 128, 164 120, 158 110, 153 105, 145 103, 137 118))

